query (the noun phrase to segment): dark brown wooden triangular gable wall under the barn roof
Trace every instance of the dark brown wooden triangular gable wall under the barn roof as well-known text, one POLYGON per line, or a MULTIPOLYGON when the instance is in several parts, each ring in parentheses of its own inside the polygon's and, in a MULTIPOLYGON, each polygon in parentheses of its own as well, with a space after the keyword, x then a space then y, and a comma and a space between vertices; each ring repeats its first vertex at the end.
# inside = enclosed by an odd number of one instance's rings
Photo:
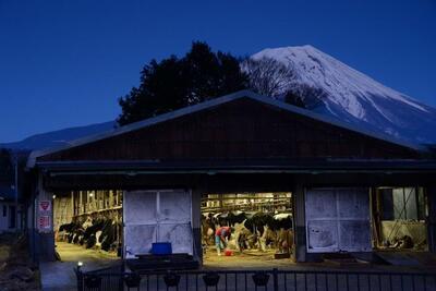
POLYGON ((242 98, 38 161, 419 158, 419 153, 242 98))

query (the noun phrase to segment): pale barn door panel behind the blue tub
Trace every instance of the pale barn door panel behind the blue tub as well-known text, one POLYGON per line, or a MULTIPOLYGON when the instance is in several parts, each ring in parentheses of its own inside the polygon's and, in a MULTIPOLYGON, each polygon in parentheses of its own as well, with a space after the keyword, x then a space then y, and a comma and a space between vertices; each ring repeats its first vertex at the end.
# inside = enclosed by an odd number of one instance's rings
POLYGON ((124 257, 148 254, 154 242, 170 242, 173 253, 193 254, 191 193, 128 191, 123 198, 124 257))

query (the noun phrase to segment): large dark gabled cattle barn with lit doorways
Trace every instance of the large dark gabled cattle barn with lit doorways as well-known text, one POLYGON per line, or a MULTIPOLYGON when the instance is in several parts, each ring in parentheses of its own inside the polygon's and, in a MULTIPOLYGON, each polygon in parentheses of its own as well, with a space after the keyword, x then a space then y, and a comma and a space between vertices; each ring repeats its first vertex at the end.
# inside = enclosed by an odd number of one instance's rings
POLYGON ((435 252, 436 161, 425 148, 247 90, 34 151, 27 168, 40 260, 55 259, 58 241, 131 260, 169 242, 206 264, 216 257, 207 226, 251 232, 233 256, 289 264, 435 252), (258 214, 291 223, 268 241, 269 225, 244 226, 258 214))

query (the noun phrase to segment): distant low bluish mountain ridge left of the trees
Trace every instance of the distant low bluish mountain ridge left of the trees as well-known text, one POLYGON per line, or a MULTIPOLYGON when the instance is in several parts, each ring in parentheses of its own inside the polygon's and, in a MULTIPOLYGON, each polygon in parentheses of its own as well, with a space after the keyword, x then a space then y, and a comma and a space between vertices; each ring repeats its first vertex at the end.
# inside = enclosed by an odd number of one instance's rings
POLYGON ((15 143, 0 144, 0 148, 11 148, 14 150, 33 150, 49 147, 57 147, 68 144, 70 141, 93 135, 96 133, 109 131, 116 125, 114 121, 108 121, 104 123, 96 123, 85 126, 69 128, 64 130, 47 132, 41 134, 35 134, 23 141, 15 143))

